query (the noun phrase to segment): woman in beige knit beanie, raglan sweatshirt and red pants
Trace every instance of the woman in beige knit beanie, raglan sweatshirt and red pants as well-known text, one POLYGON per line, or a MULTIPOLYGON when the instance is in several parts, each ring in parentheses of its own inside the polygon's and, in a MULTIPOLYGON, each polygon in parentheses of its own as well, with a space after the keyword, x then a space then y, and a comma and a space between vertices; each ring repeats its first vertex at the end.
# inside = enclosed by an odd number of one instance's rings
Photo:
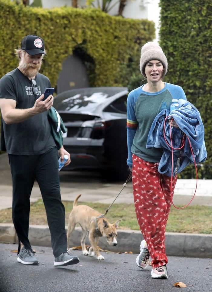
MULTIPOLYGON (((141 74, 147 83, 131 91, 127 100, 127 164, 132 170, 135 211, 144 237, 136 263, 145 269, 151 257, 151 277, 159 279, 168 277, 165 227, 177 175, 171 192, 170 178, 158 172, 163 148, 147 149, 147 136, 154 118, 164 108, 170 108, 173 98, 186 100, 180 86, 162 81, 167 67, 161 47, 147 42, 141 49, 140 61, 141 74)), ((174 121, 172 125, 177 128, 174 121)))

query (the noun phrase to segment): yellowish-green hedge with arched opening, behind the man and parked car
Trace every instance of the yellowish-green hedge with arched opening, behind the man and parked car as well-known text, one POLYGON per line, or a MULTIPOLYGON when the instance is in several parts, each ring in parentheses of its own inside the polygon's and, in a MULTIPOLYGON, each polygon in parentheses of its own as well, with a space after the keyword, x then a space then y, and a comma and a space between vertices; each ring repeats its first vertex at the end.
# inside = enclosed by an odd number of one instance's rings
POLYGON ((13 52, 21 39, 36 34, 48 53, 41 73, 52 86, 76 48, 93 60, 91 86, 125 86, 139 71, 141 45, 154 38, 154 23, 148 20, 113 17, 94 8, 31 8, 8 0, 0 0, 0 26, 0 76, 17 66, 13 52))

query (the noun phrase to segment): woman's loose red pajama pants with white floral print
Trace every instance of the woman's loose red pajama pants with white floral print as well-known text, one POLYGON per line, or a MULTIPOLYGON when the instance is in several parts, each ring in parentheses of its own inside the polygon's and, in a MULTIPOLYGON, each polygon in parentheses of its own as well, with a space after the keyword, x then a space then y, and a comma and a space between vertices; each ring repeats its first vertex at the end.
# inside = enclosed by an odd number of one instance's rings
MULTIPOLYGON (((158 163, 132 156, 135 212, 141 233, 152 258, 152 268, 167 264, 165 227, 171 207, 171 178, 158 172, 158 163)), ((172 182, 172 194, 177 175, 172 182)))

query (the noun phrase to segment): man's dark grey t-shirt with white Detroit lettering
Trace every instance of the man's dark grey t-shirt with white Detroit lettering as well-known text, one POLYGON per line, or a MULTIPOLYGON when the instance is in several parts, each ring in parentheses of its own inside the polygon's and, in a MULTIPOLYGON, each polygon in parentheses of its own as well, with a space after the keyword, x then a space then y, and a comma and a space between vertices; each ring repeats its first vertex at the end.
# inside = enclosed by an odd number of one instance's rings
MULTIPOLYGON (((40 73, 35 81, 37 95, 33 93, 31 80, 16 68, 0 79, 0 98, 15 100, 19 109, 32 108, 45 88, 51 87, 49 79, 40 73)), ((2 151, 17 155, 42 154, 55 147, 47 111, 15 124, 5 124, 2 118, 0 146, 2 151)))

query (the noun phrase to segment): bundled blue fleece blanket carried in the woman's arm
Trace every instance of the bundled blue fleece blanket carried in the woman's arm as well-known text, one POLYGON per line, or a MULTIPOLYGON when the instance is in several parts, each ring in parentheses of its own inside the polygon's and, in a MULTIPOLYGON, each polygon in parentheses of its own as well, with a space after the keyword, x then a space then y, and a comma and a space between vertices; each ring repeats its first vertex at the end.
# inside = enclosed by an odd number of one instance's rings
MULTIPOLYGON (((179 99, 178 103, 178 109, 171 112, 169 112, 169 110, 167 109, 164 109, 159 114, 157 114, 152 123, 147 138, 146 148, 164 148, 163 155, 159 162, 158 171, 161 174, 165 174, 167 176, 171 176, 171 148, 166 144, 164 140, 163 129, 164 120, 169 115, 171 115, 171 117, 168 119, 174 118, 174 121, 179 127, 179 129, 172 128, 171 130, 173 147, 181 147, 183 133, 185 133, 190 139, 196 163, 204 162, 207 158, 207 151, 204 142, 204 125, 202 123, 199 111, 197 110, 197 108, 195 108, 194 105, 184 99, 179 99)), ((165 137, 169 145, 171 145, 170 126, 168 124, 168 119, 166 120, 165 125, 165 137)), ((182 148, 181 150, 173 150, 173 175, 178 156, 181 156, 181 163, 177 170, 177 173, 181 172, 189 163, 194 163, 194 159, 187 138, 185 138, 184 148, 182 148)))

